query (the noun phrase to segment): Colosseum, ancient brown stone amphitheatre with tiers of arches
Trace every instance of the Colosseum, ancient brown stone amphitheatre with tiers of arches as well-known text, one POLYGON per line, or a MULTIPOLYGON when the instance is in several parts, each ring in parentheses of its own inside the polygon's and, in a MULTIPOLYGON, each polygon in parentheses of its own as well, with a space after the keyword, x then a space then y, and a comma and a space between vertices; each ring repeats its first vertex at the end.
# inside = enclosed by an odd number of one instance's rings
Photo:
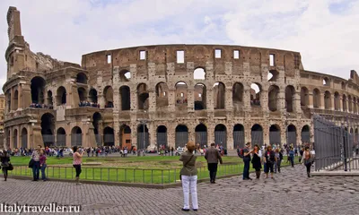
POLYGON ((193 141, 232 150, 244 142, 313 142, 313 114, 338 123, 358 116, 357 73, 345 80, 304 70, 299 52, 158 45, 85 54, 79 65, 31 52, 15 7, 7 22, 8 148, 193 141))

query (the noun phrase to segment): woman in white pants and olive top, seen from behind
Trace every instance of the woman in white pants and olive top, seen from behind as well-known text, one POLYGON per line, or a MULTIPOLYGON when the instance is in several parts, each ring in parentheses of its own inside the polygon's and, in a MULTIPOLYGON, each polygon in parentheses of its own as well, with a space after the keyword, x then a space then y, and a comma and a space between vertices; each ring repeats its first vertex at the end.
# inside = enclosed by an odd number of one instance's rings
POLYGON ((183 162, 183 168, 180 170, 180 178, 182 180, 184 206, 182 211, 189 211, 189 190, 192 196, 192 209, 198 210, 197 202, 197 157, 193 154, 196 145, 194 142, 187 143, 187 151, 182 153, 180 161, 183 162))

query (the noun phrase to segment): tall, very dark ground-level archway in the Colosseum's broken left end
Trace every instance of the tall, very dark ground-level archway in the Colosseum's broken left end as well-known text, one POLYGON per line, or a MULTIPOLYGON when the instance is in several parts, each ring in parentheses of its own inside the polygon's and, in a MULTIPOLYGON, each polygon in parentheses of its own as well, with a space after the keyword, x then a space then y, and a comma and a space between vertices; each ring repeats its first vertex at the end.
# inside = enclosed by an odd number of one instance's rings
POLYGON ((41 116, 41 135, 44 146, 55 145, 55 116, 50 113, 41 116))

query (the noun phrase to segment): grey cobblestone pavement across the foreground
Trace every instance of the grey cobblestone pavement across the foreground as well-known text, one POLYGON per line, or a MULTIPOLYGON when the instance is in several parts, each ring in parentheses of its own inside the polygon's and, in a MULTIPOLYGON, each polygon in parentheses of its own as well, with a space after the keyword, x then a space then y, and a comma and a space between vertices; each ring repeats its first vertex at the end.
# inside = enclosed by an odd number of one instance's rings
MULTIPOLYGON (((254 176, 251 176, 254 177, 254 176)), ((241 176, 198 184, 199 210, 180 211, 181 187, 156 190, 109 185, 0 181, 0 202, 81 204, 81 214, 359 214, 359 177, 305 176, 283 168, 276 180, 241 176)))

